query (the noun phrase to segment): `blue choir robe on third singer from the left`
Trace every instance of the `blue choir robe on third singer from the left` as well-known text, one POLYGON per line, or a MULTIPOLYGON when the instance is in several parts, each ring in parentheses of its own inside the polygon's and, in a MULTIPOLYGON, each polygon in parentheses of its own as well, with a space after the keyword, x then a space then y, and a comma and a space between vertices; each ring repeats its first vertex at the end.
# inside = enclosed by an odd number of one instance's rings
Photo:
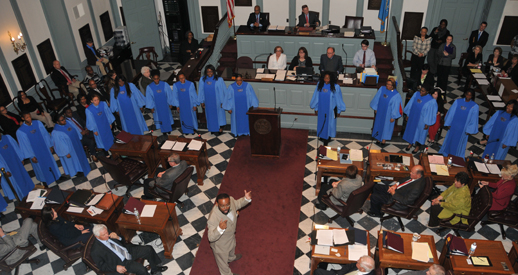
POLYGON ((61 160, 65 174, 71 177, 75 176, 77 172, 83 172, 86 176, 91 170, 81 139, 83 139, 83 135, 79 129, 68 121, 65 125, 56 124, 52 131, 54 151, 61 160), (68 154, 70 154, 70 158, 67 158, 68 154))

